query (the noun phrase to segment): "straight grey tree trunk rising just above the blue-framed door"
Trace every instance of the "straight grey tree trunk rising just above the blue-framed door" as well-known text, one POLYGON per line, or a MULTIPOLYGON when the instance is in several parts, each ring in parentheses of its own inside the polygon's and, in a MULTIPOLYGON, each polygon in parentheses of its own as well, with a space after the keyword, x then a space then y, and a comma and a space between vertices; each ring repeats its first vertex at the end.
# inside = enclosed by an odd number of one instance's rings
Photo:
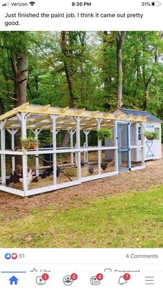
POLYGON ((125 34, 125 31, 120 31, 117 37, 117 108, 122 106, 122 46, 125 34))

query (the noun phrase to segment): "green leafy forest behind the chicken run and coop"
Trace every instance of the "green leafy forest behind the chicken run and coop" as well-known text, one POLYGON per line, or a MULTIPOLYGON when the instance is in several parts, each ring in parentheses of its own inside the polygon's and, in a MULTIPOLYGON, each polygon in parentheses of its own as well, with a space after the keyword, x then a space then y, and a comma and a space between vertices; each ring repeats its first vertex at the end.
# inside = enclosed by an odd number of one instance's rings
POLYGON ((0 114, 26 101, 163 119, 163 32, 0 32, 0 114))

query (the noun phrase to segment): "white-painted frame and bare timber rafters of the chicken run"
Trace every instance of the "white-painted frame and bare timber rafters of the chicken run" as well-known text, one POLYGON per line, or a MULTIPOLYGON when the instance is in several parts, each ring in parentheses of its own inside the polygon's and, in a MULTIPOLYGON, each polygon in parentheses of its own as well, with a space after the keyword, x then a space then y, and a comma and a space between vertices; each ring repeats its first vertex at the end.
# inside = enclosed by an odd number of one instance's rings
MULTIPOLYGON (((0 190, 4 192, 10 192, 22 197, 36 195, 41 192, 49 192, 52 190, 58 190, 60 188, 66 188, 69 186, 79 185, 84 181, 92 181, 95 179, 101 179, 104 177, 110 177, 111 175, 117 175, 118 170, 118 145, 117 145, 117 123, 128 123, 128 126, 132 122, 139 122, 140 126, 146 121, 146 117, 133 117, 133 115, 122 116, 119 113, 106 113, 99 111, 87 111, 85 109, 70 109, 70 108, 55 108, 48 106, 35 106, 29 103, 6 112, 0 116, 0 128, 1 128, 1 183, 0 190), (98 139, 97 146, 88 146, 88 134, 90 130, 99 130, 100 128, 109 128, 113 126, 114 130, 114 146, 102 146, 102 141, 98 139), (41 130, 50 130, 52 132, 52 148, 44 150, 44 148, 35 150, 15 150, 15 134, 18 130, 21 130, 22 139, 26 139, 27 130, 32 129, 35 132, 35 136, 38 138, 41 130), (11 134, 11 149, 6 149, 6 130, 11 134), (68 130, 70 133, 70 148, 57 148, 57 132, 59 130, 68 130), (86 137, 84 146, 80 145, 80 132, 83 131, 86 137), (76 132, 76 146, 73 147, 73 136, 76 132), (102 150, 113 150, 115 154, 115 171, 102 173, 102 150), (97 151, 98 156, 98 173, 97 175, 88 175, 88 177, 81 177, 81 153, 84 154, 84 160, 88 160, 88 152, 97 151), (70 161, 73 164, 73 155, 75 154, 75 161, 77 166, 77 180, 67 181, 64 183, 57 183, 56 168, 57 168, 57 154, 58 153, 70 153, 70 161), (52 186, 44 186, 44 188, 28 188, 28 156, 30 155, 46 155, 52 154, 53 156, 53 184, 52 186), (15 156, 22 156, 22 171, 23 171, 23 190, 16 188, 10 188, 6 186, 6 155, 12 155, 12 172, 15 170, 15 156)), ((130 134, 130 130, 129 130, 130 134)), ((142 128, 143 136, 143 128, 142 128)), ((130 142, 130 135, 128 135, 130 142)), ((144 166, 144 137, 142 137, 142 143, 140 146, 131 146, 129 143, 129 150, 131 148, 141 148, 142 150, 142 165, 135 166, 130 170, 140 170, 145 168, 144 166)), ((131 158, 129 157, 129 162, 131 158)), ((39 175, 39 159, 35 158, 35 174, 39 175)))

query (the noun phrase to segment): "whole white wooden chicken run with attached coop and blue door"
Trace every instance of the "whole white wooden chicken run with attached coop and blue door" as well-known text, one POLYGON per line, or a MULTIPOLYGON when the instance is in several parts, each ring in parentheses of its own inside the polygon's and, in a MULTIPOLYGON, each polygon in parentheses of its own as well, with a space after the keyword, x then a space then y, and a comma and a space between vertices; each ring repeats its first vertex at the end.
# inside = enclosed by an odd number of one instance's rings
POLYGON ((148 112, 133 112, 91 112, 29 103, 6 112, 0 116, 0 190, 26 197, 145 168, 144 127, 159 132, 148 150, 151 153, 157 143, 157 154, 149 159, 160 158, 162 121, 148 112), (102 128, 111 130, 111 139, 97 138, 97 130, 102 128), (26 139, 31 131, 38 140, 49 135, 50 143, 42 148, 38 144, 34 148, 17 147, 15 140, 26 139), (59 141, 62 131, 70 136, 66 147, 59 141))

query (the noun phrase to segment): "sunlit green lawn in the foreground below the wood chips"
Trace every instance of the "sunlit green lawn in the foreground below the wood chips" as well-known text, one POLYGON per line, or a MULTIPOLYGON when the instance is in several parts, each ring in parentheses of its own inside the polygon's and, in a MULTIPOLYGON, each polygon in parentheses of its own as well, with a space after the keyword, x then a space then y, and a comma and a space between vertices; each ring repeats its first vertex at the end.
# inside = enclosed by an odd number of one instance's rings
POLYGON ((64 212, 54 206, 31 210, 8 223, 0 212, 0 247, 162 248, 162 212, 163 186, 89 200, 64 212))

